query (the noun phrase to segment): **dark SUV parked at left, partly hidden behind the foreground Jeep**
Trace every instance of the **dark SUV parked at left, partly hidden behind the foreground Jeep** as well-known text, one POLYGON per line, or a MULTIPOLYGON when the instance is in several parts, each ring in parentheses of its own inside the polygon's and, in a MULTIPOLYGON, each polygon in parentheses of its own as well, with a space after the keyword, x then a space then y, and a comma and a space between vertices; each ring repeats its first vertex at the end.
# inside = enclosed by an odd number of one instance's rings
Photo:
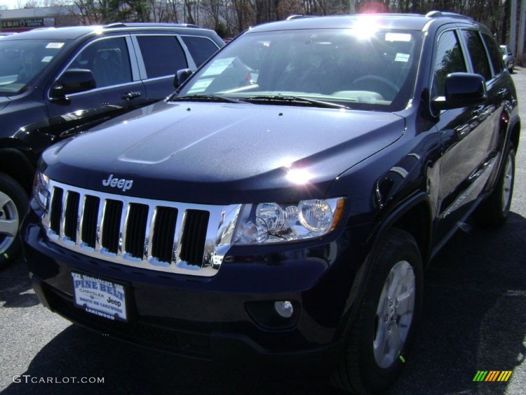
POLYGON ((0 40, 0 268, 41 152, 88 126, 151 104, 224 45, 195 25, 116 23, 36 29, 0 40))

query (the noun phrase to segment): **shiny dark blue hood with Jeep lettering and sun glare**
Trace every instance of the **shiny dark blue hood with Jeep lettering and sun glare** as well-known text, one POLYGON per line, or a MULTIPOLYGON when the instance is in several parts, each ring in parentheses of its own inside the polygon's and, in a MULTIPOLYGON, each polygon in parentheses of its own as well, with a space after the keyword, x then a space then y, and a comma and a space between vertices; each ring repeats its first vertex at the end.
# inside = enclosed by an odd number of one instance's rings
POLYGON ((391 113, 161 102, 54 145, 43 159, 53 180, 149 199, 320 199, 339 174, 403 130, 391 113), (108 178, 133 184, 112 187, 108 178))

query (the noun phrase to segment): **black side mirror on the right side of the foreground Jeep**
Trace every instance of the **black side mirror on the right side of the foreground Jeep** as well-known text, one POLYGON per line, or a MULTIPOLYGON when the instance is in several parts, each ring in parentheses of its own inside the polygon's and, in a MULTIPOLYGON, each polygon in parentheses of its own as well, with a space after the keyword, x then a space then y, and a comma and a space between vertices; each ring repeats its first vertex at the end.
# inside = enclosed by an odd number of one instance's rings
POLYGON ((451 73, 444 82, 446 96, 431 102, 433 110, 451 110, 483 103, 488 98, 484 78, 479 74, 451 73))

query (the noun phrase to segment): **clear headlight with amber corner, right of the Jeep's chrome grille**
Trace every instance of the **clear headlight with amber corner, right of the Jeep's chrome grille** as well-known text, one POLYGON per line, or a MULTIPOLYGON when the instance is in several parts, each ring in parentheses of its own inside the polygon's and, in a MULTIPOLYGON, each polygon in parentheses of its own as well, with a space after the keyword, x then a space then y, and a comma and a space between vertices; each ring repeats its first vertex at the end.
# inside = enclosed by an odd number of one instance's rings
POLYGON ((293 204, 246 204, 237 221, 234 244, 312 239, 335 229, 345 199, 312 199, 293 204))

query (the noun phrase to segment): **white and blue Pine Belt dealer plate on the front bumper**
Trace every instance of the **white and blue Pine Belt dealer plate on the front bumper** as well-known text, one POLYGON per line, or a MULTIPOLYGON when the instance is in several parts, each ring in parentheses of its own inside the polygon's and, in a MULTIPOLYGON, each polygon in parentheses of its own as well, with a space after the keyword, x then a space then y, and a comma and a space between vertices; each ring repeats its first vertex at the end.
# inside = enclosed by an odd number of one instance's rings
POLYGON ((88 313, 108 320, 127 320, 123 285, 88 274, 71 273, 75 304, 88 313))

